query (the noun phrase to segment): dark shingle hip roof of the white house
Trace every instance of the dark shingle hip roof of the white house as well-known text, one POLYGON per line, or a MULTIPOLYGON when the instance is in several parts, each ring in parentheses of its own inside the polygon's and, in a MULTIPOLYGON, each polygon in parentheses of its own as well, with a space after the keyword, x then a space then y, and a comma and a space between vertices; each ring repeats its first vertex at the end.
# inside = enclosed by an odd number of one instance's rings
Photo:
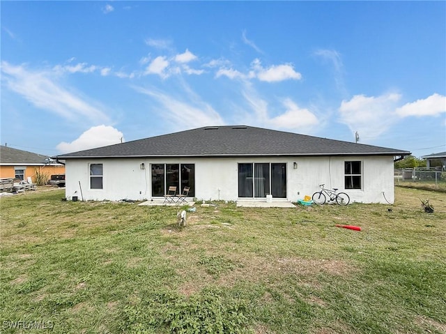
POLYGON ((251 126, 215 126, 63 154, 58 158, 409 154, 397 149, 251 126))

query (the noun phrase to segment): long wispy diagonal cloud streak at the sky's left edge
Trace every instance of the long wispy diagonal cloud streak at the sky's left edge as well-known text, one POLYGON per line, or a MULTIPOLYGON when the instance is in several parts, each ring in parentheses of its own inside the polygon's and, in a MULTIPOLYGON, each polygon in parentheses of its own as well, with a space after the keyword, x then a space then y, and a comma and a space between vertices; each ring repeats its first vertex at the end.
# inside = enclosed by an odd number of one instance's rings
POLYGON ((70 121, 88 119, 95 123, 107 123, 109 118, 99 107, 87 103, 79 94, 61 86, 53 73, 45 70, 30 71, 25 66, 1 63, 2 80, 11 91, 20 94, 36 107, 58 114, 70 121))

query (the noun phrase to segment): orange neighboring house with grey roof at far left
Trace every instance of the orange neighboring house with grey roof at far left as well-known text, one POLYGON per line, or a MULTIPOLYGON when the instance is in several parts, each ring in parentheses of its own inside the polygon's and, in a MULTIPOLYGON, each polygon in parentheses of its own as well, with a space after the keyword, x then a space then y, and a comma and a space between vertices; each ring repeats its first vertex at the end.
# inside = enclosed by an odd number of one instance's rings
POLYGON ((26 181, 31 176, 36 182, 36 172, 46 174, 49 179, 52 174, 65 174, 65 166, 47 155, 0 146, 0 178, 26 181))

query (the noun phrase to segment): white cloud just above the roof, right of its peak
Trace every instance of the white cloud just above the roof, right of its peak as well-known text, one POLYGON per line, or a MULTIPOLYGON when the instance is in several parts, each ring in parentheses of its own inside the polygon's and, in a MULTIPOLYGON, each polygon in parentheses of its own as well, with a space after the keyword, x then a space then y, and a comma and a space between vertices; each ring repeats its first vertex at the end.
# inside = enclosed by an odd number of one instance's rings
POLYGON ((268 121, 272 126, 282 129, 302 129, 316 126, 319 121, 317 117, 309 111, 296 105, 293 100, 287 98, 284 100, 286 112, 276 116, 268 121))

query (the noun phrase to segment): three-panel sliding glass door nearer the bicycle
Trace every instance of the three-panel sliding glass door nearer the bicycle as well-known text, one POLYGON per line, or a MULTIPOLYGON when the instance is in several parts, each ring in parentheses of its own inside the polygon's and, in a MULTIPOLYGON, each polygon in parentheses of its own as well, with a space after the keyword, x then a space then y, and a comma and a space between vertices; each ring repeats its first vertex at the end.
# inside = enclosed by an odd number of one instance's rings
POLYGON ((238 164, 238 197, 286 198, 286 163, 238 164))

